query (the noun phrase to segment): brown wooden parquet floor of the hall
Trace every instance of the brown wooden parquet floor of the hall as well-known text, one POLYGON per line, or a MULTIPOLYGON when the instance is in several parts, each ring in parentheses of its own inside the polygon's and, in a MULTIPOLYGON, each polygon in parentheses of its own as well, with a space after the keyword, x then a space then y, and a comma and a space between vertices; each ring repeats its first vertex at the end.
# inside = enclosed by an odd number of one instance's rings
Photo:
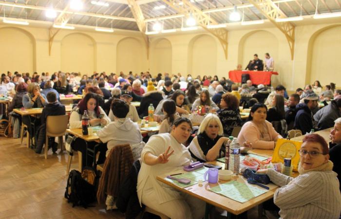
MULTIPOLYGON (((45 160, 43 153, 21 145, 20 139, 0 137, 0 219, 124 219, 118 210, 106 211, 104 205, 84 209, 67 203, 67 157, 59 149, 57 154, 49 150, 45 160)), ((77 157, 71 169, 77 169, 77 157)), ((222 215, 215 212, 216 219, 226 219, 226 212, 222 215)), ((257 207, 248 211, 248 218, 258 218, 257 207)))

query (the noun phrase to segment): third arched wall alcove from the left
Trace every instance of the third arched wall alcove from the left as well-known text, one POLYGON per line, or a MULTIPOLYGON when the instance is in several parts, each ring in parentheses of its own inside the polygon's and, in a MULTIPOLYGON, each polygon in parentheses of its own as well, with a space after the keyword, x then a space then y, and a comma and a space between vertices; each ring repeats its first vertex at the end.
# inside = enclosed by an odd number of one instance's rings
POLYGON ((117 43, 116 48, 116 71, 128 74, 143 71, 143 57, 145 51, 142 43, 133 37, 126 37, 117 43))

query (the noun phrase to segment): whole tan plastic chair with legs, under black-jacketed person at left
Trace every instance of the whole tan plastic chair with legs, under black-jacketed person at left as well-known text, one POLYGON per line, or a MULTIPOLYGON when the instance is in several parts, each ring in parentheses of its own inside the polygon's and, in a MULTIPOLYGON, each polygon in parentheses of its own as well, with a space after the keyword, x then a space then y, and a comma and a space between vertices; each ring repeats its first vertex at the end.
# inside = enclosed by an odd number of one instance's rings
POLYGON ((69 116, 68 115, 58 115, 58 116, 48 116, 46 119, 46 138, 45 138, 45 159, 47 159, 47 151, 49 148, 49 138, 48 137, 58 137, 58 145, 60 145, 60 151, 63 151, 63 136, 65 135, 65 130, 68 127, 69 116))

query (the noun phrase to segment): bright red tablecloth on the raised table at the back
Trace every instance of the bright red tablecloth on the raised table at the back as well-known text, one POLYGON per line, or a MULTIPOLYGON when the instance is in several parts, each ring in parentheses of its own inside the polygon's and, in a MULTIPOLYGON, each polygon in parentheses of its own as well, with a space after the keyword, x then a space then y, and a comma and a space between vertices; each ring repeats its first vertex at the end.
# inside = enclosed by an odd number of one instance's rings
POLYGON ((271 75, 278 74, 277 72, 262 72, 262 71, 239 71, 233 70, 228 72, 228 77, 236 83, 242 82, 242 74, 249 74, 252 84, 271 84, 271 75))

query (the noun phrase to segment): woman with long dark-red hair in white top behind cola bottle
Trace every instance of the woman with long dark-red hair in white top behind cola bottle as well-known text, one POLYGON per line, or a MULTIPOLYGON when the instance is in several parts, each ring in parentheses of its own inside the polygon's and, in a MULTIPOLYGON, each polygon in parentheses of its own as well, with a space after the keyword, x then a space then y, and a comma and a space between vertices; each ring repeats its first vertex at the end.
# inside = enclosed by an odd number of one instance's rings
MULTIPOLYGON (((82 128, 82 115, 86 110, 89 116, 89 126, 106 126, 110 123, 110 119, 105 114, 104 110, 98 106, 98 95, 95 93, 87 93, 85 97, 79 101, 77 107, 75 107, 70 115, 69 126, 70 128, 82 128)), ((82 165, 92 166, 94 159, 91 156, 86 156, 86 147, 94 148, 97 143, 95 142, 85 142, 81 138, 77 138, 72 144, 73 150, 78 150, 82 152, 82 165), (87 161, 87 163, 85 162, 87 161)), ((105 161, 105 152, 107 151, 107 146, 101 144, 98 147, 99 157, 98 164, 103 164, 105 161)))

